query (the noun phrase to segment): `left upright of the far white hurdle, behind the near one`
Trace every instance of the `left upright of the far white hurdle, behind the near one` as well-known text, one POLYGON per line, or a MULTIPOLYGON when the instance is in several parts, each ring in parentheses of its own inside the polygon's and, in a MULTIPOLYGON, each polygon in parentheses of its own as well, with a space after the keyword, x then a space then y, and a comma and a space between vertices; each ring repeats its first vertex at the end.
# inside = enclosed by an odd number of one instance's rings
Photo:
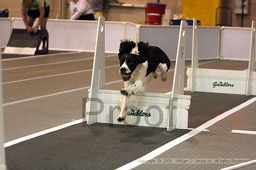
POLYGON ((193 19, 193 36, 192 36, 192 61, 191 61, 191 82, 190 91, 195 91, 195 69, 198 68, 198 44, 197 44, 197 19, 193 19))

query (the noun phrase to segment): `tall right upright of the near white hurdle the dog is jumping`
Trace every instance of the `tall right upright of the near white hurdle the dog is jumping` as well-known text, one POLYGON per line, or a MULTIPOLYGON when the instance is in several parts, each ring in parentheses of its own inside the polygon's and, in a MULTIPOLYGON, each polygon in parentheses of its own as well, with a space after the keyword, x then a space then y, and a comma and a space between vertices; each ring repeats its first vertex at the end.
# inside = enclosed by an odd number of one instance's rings
POLYGON ((177 110, 176 106, 173 106, 174 101, 178 101, 179 94, 184 94, 184 74, 185 74, 185 47, 186 47, 186 26, 187 22, 182 20, 180 26, 177 55, 175 62, 174 81, 172 87, 172 94, 169 107, 169 119, 167 131, 171 131, 176 128, 177 110))

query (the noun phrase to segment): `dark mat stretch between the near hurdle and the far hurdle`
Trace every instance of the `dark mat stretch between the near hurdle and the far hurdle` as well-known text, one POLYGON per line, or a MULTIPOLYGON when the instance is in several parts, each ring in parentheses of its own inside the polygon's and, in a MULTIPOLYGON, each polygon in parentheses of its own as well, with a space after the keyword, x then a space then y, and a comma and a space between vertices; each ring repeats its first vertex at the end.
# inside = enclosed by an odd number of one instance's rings
POLYGON ((189 127, 196 128, 208 120, 234 108, 245 101, 255 97, 239 94, 221 94, 189 92, 184 94, 191 95, 191 104, 189 108, 189 127))

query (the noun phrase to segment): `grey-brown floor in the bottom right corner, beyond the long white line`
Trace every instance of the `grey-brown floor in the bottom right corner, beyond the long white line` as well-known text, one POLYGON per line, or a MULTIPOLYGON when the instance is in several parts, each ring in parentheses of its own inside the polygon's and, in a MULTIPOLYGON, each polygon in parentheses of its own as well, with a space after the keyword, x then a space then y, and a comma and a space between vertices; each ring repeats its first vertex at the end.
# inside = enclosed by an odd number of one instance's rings
MULTIPOLYGON (((255 135, 231 133, 233 129, 256 131, 256 102, 209 126, 156 158, 256 159, 255 135)), ((235 164, 142 164, 133 170, 220 170, 235 164)), ((256 170, 256 164, 238 170, 256 170)))

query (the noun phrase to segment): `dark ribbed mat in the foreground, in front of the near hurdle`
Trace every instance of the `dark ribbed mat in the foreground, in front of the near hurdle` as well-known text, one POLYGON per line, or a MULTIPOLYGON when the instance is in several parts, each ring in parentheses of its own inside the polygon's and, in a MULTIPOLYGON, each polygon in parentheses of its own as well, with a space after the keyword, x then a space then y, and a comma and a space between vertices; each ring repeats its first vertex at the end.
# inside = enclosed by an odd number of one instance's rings
POLYGON ((187 130, 81 124, 6 148, 8 170, 113 170, 187 130))

